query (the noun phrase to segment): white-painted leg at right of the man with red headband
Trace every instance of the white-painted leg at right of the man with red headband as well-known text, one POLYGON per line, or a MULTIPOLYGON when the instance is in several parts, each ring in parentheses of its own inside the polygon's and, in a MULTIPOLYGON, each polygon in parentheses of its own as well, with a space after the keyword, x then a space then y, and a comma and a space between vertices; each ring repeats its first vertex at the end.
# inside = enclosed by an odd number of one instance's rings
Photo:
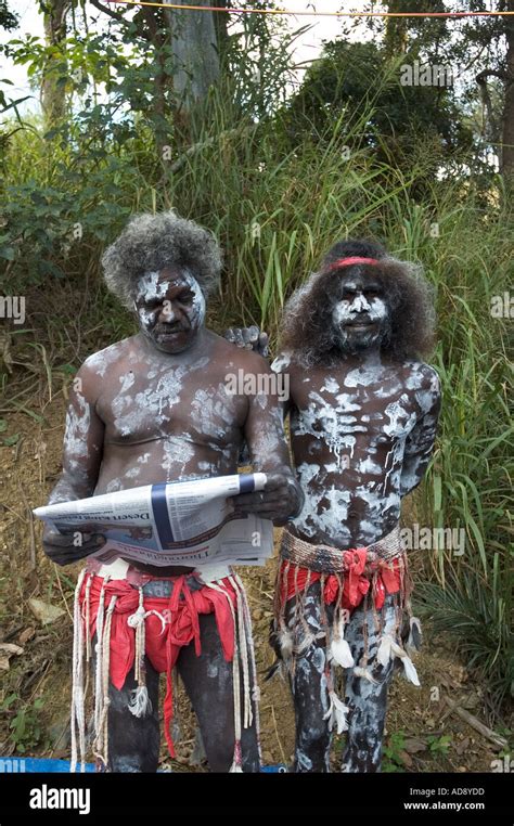
MULTIPOLYGON (((384 633, 395 627, 395 609, 391 597, 387 597, 382 609, 384 633)), ((390 661, 383 668, 376 661, 380 631, 375 630, 373 611, 368 611, 368 671, 376 683, 347 671, 346 699, 350 708, 348 715, 346 748, 343 754, 343 772, 380 772, 382 762, 382 740, 387 710, 387 689, 394 672, 390 661)), ((364 611, 357 609, 346 627, 345 637, 357 666, 361 662, 364 650, 362 633, 364 611)))

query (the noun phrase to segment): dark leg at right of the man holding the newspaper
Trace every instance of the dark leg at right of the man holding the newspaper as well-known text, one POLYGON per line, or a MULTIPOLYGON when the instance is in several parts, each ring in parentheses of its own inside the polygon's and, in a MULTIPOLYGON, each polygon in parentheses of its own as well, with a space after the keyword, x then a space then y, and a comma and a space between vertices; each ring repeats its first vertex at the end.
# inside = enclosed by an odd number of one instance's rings
MULTIPOLYGON (((202 653, 190 643, 180 651, 178 672, 198 719, 202 740, 211 772, 228 772, 234 756, 234 698, 232 663, 223 657, 214 614, 200 617, 202 653)), ((257 730, 242 727, 244 772, 259 772, 257 730)), ((241 723, 243 726, 243 721, 241 723)))

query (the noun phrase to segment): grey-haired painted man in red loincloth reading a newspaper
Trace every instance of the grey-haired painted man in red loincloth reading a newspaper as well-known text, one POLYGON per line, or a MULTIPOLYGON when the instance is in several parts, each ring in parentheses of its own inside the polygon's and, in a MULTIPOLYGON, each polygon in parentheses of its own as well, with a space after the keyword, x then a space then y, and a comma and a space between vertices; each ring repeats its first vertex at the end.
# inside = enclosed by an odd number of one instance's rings
MULTIPOLYGON (((50 503, 233 474, 245 440, 254 468, 268 479, 257 496, 233 499, 235 513, 284 524, 300 500, 278 399, 269 383, 267 392, 237 393, 227 386, 234 373, 273 374, 260 356, 235 351, 204 326, 206 298, 221 270, 214 236, 174 212, 142 215, 108 247, 102 263, 107 286, 133 311, 140 330, 94 353, 78 371, 63 473, 50 503)), ((73 537, 47 528, 44 551, 68 565, 103 545, 108 550, 102 537, 82 540, 76 547, 73 537)), ((207 575, 123 558, 110 565, 88 560, 76 593, 72 726, 74 737, 77 723, 82 759, 85 649, 94 664, 100 769, 156 771, 159 672, 167 674, 165 731, 174 753, 176 667, 210 769, 259 771, 249 614, 241 581, 230 568, 219 568, 207 575)))

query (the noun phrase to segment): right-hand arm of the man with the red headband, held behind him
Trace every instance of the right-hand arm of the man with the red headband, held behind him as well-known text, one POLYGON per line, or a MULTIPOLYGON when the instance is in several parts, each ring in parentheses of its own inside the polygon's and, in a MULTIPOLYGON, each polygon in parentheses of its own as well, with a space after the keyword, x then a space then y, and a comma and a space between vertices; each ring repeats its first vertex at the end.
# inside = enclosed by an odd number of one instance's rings
POLYGON ((406 441, 400 477, 401 496, 414 490, 423 479, 437 434, 441 403, 440 384, 437 373, 432 367, 426 367, 426 380, 416 393, 421 414, 406 441))

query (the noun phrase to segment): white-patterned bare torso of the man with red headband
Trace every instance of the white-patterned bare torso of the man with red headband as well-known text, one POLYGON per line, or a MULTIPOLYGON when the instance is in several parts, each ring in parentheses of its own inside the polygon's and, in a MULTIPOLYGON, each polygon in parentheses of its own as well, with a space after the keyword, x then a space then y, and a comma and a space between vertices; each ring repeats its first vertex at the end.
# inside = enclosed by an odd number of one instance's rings
POLYGON ((285 358, 282 364, 306 494, 293 532, 342 548, 377 541, 398 524, 402 488, 419 481, 406 479, 406 444, 438 395, 435 371, 419 362, 306 369, 285 358))

